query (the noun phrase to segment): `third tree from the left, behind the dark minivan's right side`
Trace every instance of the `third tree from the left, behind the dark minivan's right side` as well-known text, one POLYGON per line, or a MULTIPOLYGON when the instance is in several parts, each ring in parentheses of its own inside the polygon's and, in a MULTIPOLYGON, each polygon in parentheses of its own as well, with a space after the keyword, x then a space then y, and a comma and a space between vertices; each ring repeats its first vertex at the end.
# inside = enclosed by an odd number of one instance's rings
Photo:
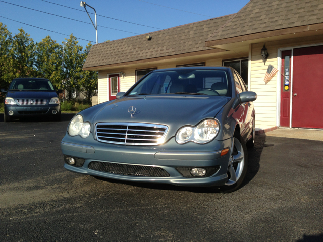
POLYGON ((36 44, 36 60, 38 76, 49 79, 57 89, 63 88, 62 46, 48 35, 36 44))

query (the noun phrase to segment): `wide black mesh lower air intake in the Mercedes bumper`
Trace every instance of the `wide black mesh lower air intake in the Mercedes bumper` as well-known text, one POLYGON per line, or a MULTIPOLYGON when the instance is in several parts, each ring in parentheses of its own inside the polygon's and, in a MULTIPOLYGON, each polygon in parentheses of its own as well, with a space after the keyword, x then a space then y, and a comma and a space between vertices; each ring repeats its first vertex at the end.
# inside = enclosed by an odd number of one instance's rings
POLYGON ((88 168, 119 175, 145 176, 145 177, 169 177, 170 174, 160 167, 144 165, 124 165, 108 162, 92 161, 88 168))

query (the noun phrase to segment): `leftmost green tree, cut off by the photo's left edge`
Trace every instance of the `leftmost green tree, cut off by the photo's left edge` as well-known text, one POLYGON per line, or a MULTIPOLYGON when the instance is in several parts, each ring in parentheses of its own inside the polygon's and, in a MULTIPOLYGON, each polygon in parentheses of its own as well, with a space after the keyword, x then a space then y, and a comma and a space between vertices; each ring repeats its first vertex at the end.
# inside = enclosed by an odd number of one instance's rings
POLYGON ((0 87, 6 89, 14 78, 12 41, 7 26, 0 23, 0 87))

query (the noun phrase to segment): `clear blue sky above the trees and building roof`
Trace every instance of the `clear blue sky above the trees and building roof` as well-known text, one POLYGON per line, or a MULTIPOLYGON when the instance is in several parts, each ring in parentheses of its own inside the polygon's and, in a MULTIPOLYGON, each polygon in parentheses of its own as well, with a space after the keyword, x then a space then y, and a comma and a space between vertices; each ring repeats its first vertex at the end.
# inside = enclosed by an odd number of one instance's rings
MULTIPOLYGON (((85 2, 96 10, 98 43, 101 43, 106 40, 127 38, 233 14, 238 12, 249 1, 89 0, 85 2)), ((89 13, 94 13, 90 7, 86 7, 86 9, 89 13)), ((93 41, 92 44, 95 44, 95 28, 91 24, 87 13, 82 11, 85 11, 85 9, 80 6, 79 0, 0 0, 0 22, 7 25, 8 30, 13 35, 18 33, 18 29, 22 27, 35 42, 40 42, 47 35, 50 35, 52 39, 62 43, 65 38, 69 38, 69 35, 73 33, 78 38, 80 45, 85 46, 89 41, 93 41)), ((95 24, 94 14, 90 14, 90 16, 95 24)))

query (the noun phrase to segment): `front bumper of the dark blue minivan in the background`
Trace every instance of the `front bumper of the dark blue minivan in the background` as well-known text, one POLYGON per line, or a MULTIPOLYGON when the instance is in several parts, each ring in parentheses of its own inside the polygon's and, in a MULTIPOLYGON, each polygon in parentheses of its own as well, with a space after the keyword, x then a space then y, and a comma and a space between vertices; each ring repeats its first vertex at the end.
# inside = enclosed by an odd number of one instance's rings
POLYGON ((5 105, 5 114, 6 116, 13 118, 25 116, 57 116, 61 114, 61 107, 57 104, 37 106, 5 105), (10 111, 13 112, 12 115, 10 115, 10 111), (53 113, 53 111, 55 112, 55 114, 53 113))

